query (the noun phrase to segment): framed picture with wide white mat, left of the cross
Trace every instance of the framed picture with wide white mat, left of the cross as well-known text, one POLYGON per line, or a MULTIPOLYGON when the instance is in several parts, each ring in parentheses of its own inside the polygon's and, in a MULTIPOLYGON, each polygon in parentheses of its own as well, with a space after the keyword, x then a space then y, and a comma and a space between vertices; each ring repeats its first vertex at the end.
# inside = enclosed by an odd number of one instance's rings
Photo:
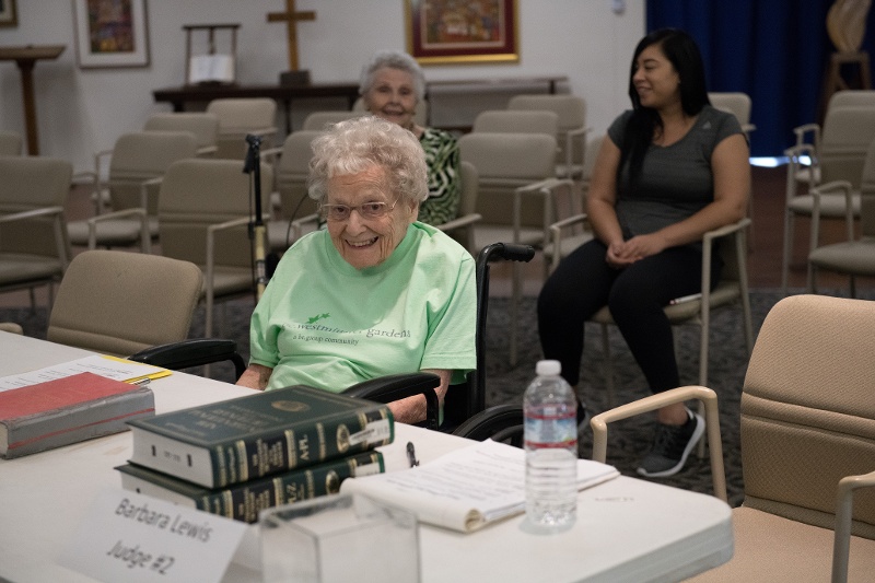
POLYGON ((79 67, 145 67, 145 0, 73 0, 79 67))

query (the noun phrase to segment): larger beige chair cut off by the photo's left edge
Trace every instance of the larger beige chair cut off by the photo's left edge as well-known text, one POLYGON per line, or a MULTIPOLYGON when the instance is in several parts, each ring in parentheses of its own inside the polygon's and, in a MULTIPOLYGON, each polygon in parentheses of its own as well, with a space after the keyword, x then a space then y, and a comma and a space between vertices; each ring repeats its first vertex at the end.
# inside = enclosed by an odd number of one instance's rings
POLYGON ((54 283, 70 263, 63 208, 72 165, 66 160, 0 156, 0 292, 54 283))

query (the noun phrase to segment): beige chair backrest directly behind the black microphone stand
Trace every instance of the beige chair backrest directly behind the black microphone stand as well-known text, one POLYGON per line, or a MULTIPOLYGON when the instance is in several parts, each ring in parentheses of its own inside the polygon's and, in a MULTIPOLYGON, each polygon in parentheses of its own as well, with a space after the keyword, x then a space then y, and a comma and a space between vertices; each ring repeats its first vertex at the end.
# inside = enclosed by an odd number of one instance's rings
MULTIPOLYGON (((161 253, 167 257, 207 263, 210 225, 250 217, 250 175, 235 160, 188 159, 167 168, 161 184, 158 217, 161 253)), ((261 210, 267 212, 273 171, 261 163, 261 210)), ((217 265, 252 266, 253 248, 247 225, 215 235, 217 265)))

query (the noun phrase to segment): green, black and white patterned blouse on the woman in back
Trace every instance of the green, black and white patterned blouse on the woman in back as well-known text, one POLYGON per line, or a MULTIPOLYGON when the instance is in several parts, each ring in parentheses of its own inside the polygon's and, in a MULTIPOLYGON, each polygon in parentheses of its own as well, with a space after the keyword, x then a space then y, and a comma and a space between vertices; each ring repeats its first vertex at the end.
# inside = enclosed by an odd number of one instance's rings
POLYGON ((425 128, 420 138, 429 166, 429 198, 419 206, 420 222, 439 225, 458 214, 460 196, 458 142, 448 131, 425 128))

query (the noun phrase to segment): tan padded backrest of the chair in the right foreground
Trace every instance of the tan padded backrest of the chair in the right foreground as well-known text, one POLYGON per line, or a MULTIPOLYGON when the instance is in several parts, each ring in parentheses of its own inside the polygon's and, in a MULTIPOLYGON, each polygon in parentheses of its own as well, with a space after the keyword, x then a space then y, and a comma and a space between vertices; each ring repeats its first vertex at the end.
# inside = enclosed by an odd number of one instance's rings
MULTIPOLYGON (((746 506, 832 528, 839 479, 875 459, 875 303, 794 295, 769 312, 742 395, 746 506)), ((875 491, 854 494, 875 538, 875 491)))

